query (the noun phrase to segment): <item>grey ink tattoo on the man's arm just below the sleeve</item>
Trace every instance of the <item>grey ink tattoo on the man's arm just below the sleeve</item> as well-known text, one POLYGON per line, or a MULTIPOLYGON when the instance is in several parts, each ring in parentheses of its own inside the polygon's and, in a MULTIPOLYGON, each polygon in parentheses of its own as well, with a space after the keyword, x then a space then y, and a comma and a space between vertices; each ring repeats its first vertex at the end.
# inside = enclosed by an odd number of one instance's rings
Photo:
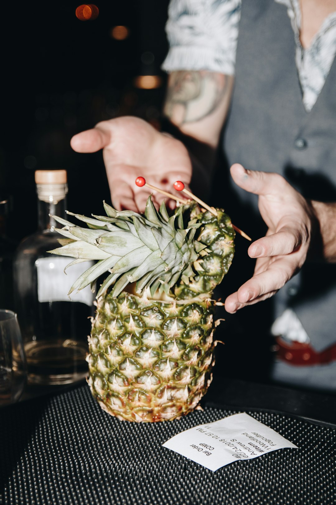
POLYGON ((199 121, 217 109, 229 87, 223 74, 206 70, 172 72, 164 113, 178 126, 199 121))

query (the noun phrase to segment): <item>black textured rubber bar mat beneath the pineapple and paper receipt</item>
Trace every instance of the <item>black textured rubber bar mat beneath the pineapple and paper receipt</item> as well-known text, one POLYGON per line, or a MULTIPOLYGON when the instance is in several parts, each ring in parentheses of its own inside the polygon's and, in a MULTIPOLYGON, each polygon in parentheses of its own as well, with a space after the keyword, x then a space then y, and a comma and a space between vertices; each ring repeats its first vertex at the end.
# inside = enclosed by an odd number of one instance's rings
POLYGON ((239 412, 206 408, 136 424, 103 412, 87 385, 0 411, 1 503, 334 505, 336 430, 249 412, 299 446, 212 472, 162 443, 239 412))

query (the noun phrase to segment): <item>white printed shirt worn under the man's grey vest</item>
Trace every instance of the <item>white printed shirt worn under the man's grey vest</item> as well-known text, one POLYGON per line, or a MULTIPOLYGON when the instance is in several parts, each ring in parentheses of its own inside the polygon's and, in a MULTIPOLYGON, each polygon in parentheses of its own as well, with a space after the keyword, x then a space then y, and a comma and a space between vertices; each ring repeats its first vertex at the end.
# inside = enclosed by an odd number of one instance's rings
MULTIPOLYGON (((300 42, 299 0, 275 2, 287 7, 302 100, 309 112, 336 53, 336 12, 325 18, 310 46, 304 49, 300 42)), ((241 0, 171 0, 166 24, 170 49, 163 70, 209 70, 234 75, 240 10, 241 0)))

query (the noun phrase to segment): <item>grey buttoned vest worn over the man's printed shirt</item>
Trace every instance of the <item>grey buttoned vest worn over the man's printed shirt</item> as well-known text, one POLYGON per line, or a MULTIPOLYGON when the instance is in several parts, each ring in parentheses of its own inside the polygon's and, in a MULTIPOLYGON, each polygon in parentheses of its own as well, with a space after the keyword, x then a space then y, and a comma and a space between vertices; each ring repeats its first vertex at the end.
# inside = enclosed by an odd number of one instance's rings
MULTIPOLYGON (((242 1, 224 151, 228 166, 238 162, 251 170, 278 172, 304 196, 336 201, 336 60, 307 113, 290 19, 286 7, 274 0, 242 1)), ((253 239, 262 236, 257 197, 233 186, 230 205, 241 210, 231 212, 233 222, 253 239)), ((316 350, 336 342, 336 266, 306 264, 267 311, 275 319, 287 307, 296 312, 316 350)))

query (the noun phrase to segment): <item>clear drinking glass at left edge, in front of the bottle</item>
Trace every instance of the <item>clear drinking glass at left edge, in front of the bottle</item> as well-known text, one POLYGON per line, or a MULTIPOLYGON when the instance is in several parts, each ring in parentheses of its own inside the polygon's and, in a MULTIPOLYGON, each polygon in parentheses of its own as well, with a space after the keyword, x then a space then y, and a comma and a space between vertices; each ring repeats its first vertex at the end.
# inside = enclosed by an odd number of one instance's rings
POLYGON ((0 309, 0 406, 16 402, 25 387, 27 364, 17 315, 0 309))

